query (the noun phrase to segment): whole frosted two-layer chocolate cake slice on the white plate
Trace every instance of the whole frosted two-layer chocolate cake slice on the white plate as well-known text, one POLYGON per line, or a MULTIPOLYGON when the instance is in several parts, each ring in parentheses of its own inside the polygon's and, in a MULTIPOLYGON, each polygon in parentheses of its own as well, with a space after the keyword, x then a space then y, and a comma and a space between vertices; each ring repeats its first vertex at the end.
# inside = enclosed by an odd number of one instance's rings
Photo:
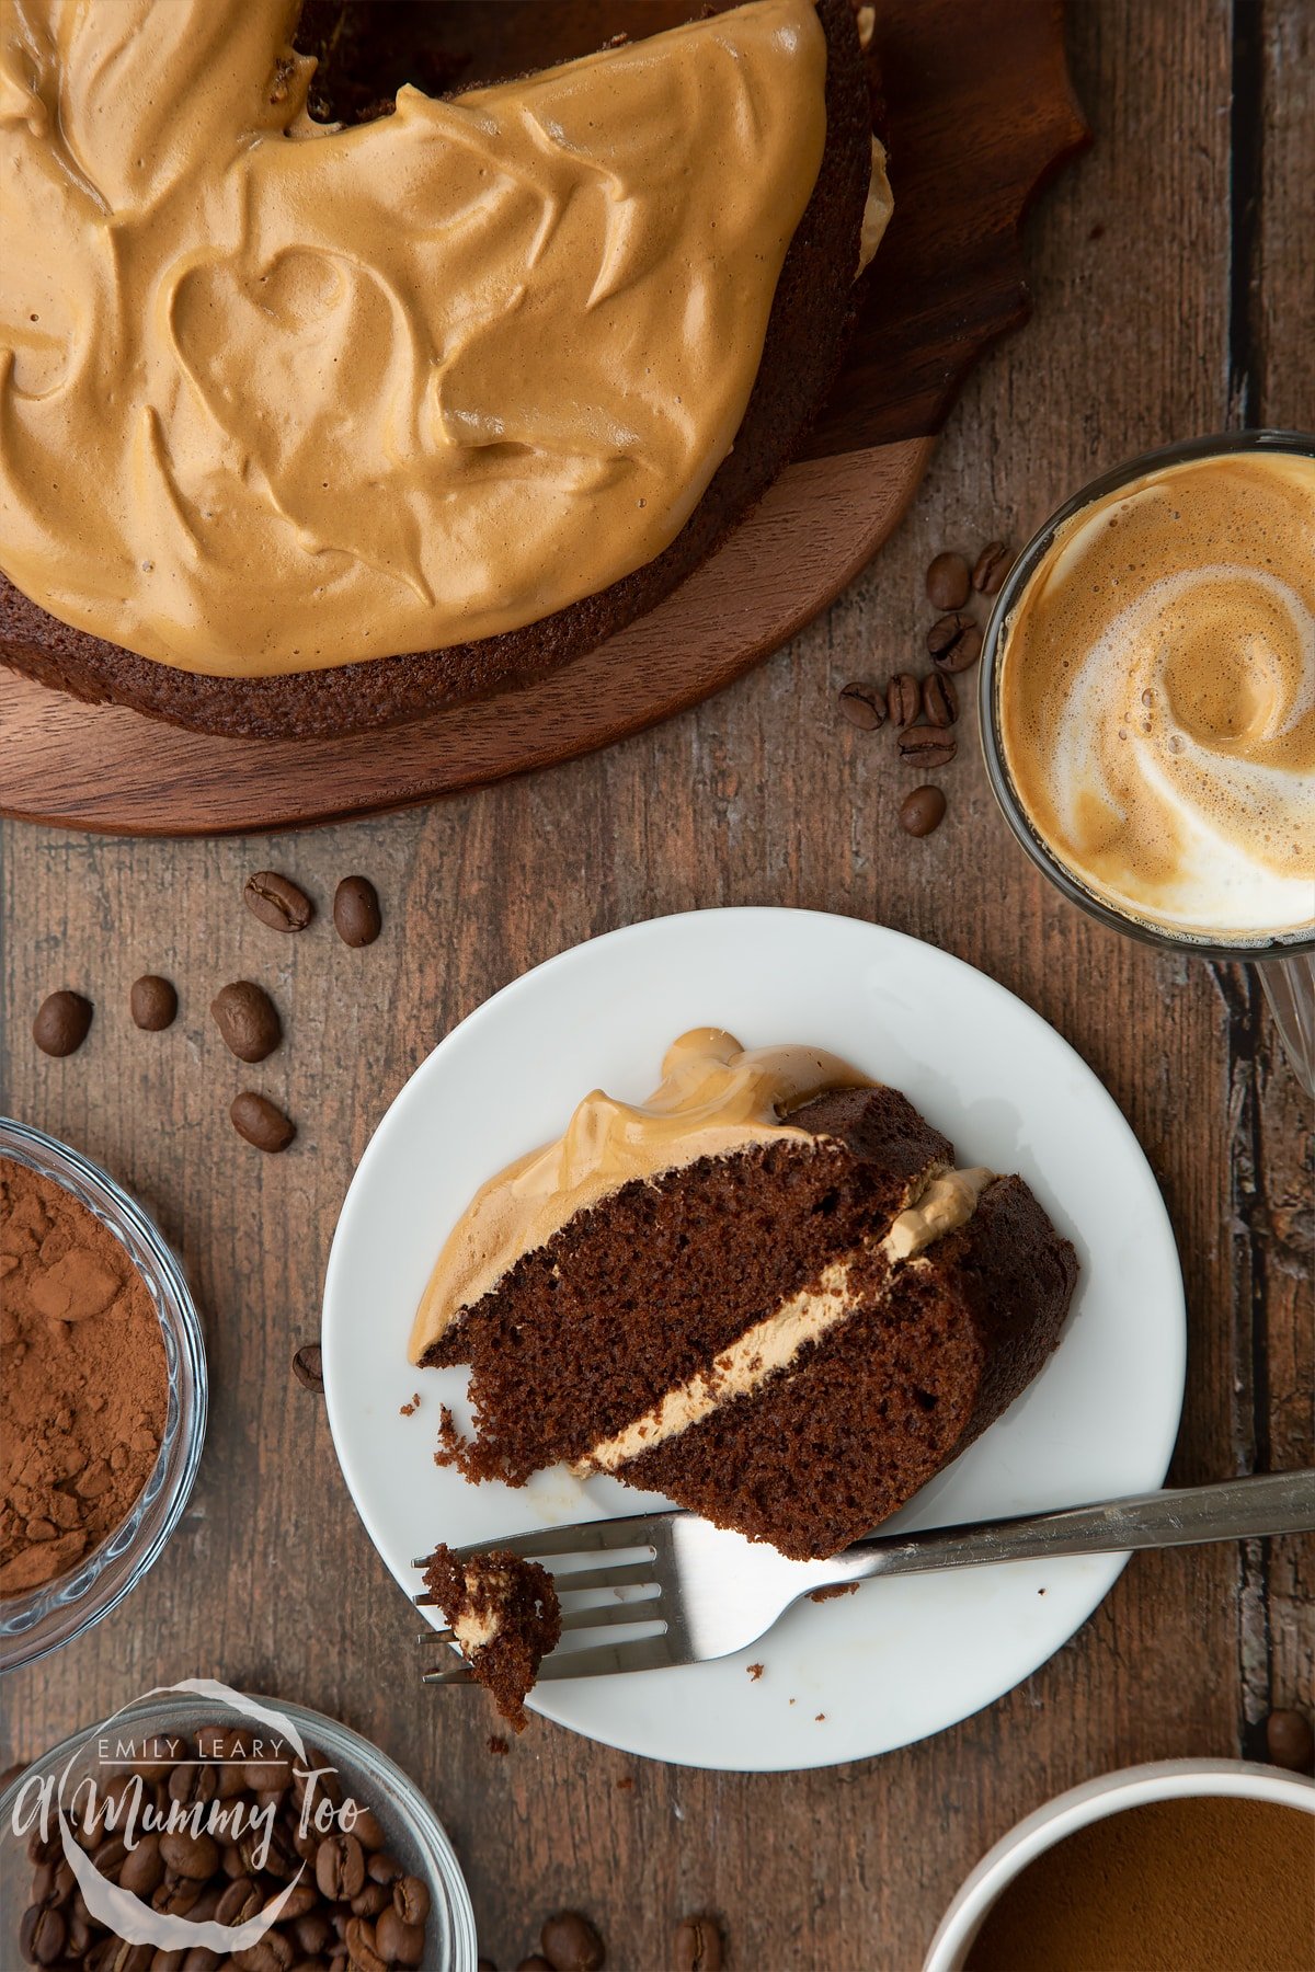
POLYGON ((903 1094, 812 1059, 820 1092, 700 1029, 649 1104, 586 1098, 479 1193, 412 1335, 471 1365, 473 1434, 446 1418, 440 1463, 605 1471, 822 1556, 1021 1394, 1073 1246, 1021 1177, 956 1169, 903 1094))

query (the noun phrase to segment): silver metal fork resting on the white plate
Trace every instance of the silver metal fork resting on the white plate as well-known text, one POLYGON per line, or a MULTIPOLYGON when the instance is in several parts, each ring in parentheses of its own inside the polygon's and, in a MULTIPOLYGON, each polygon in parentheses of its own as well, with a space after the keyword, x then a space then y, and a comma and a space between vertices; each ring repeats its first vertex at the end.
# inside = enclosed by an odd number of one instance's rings
MULTIPOLYGON (((544 1526, 453 1552, 511 1552, 552 1568, 564 1613, 562 1641, 538 1666, 544 1682, 731 1656, 757 1643, 800 1595, 873 1576, 1311 1530, 1315 1471, 1293 1471, 1138 1493, 1063 1513, 938 1526, 925 1534, 875 1534, 824 1562, 791 1562, 761 1540, 727 1534, 676 1511, 544 1526), (599 1554, 607 1556, 601 1566, 593 1560, 599 1554), (576 1562, 586 1566, 572 1566, 576 1562), (582 1597, 588 1599, 582 1603, 582 1597), (633 1635, 613 1637, 617 1625, 633 1635)), ((412 1566, 426 1568, 428 1556, 412 1566)), ((416 1595, 416 1603, 432 1607, 434 1597, 416 1595)), ((420 1641, 432 1647, 453 1639, 450 1629, 426 1629, 420 1641)), ((422 1676, 424 1684, 469 1680, 469 1666, 459 1656, 422 1676)))

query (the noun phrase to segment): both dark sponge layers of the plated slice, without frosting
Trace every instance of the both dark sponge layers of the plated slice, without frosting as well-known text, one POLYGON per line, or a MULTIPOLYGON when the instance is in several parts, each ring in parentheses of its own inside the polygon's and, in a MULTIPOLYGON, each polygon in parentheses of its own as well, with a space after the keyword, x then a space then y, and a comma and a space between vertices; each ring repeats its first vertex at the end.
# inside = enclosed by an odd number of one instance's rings
POLYGON ((524 1254, 426 1363, 469 1363, 473 1436, 440 1463, 524 1485, 708 1376, 747 1329, 844 1262, 844 1317, 755 1388, 617 1477, 791 1556, 895 1513, 1031 1382, 1076 1256, 1021 1177, 905 1264, 891 1221, 954 1150, 893 1089, 824 1094, 781 1140, 623 1185, 524 1254))

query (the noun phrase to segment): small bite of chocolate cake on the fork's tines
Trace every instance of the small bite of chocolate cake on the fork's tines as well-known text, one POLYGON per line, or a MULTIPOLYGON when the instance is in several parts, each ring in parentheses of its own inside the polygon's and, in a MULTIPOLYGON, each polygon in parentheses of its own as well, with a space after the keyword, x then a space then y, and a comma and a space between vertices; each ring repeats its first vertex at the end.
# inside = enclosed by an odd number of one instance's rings
POLYGON ((524 1694, 562 1635, 552 1576, 519 1554, 453 1554, 438 1546, 424 1570, 426 1601, 442 1609, 451 1639, 517 1731, 528 1718, 524 1694))

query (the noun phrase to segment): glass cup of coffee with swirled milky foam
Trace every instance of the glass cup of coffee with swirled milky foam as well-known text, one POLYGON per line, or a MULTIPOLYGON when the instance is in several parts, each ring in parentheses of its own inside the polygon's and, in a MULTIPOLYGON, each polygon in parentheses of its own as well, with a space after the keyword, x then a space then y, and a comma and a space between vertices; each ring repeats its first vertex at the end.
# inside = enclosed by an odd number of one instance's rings
POLYGON ((1315 1094, 1315 436, 1147 452, 1027 542, 982 653, 992 789, 1073 903, 1256 964, 1315 1094))

